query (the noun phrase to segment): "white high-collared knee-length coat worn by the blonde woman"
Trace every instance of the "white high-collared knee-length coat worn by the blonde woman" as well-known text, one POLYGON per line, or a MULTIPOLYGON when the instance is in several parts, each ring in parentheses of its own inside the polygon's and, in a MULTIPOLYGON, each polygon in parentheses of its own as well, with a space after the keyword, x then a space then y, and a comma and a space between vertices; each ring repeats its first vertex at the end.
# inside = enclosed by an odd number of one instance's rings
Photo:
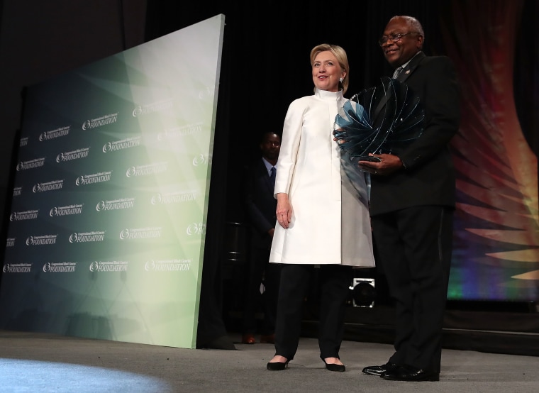
POLYGON ((275 224, 270 262, 374 267, 367 187, 352 186, 333 140, 346 100, 316 89, 289 106, 274 196, 287 193, 293 214, 288 229, 275 224))

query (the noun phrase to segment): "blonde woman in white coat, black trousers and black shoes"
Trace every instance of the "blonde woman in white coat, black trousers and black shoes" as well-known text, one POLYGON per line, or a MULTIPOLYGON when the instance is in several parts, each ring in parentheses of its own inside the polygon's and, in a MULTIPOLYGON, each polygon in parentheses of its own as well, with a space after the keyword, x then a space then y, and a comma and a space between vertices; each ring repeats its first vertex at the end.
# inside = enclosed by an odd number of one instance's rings
POLYGON ((348 57, 338 45, 311 50, 314 94, 294 100, 284 119, 274 195, 277 198, 270 262, 281 263, 275 355, 267 370, 284 370, 301 333, 309 277, 320 265, 318 343, 330 371, 339 358, 352 267, 374 267, 365 183, 352 185, 333 140, 338 110, 347 99, 348 57))

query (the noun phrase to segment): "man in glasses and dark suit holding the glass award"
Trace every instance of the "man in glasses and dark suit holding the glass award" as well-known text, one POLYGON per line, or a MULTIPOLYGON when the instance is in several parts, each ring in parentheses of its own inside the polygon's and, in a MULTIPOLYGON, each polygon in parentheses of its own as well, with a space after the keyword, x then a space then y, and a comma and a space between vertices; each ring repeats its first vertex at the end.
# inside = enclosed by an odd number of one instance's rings
POLYGON ((389 20, 379 45, 394 78, 421 100, 424 129, 399 155, 376 154, 360 162, 372 174, 372 235, 377 265, 395 301, 396 352, 365 374, 385 380, 438 381, 443 315, 452 253, 455 170, 448 144, 457 133, 460 102, 452 62, 422 52, 421 23, 389 20))

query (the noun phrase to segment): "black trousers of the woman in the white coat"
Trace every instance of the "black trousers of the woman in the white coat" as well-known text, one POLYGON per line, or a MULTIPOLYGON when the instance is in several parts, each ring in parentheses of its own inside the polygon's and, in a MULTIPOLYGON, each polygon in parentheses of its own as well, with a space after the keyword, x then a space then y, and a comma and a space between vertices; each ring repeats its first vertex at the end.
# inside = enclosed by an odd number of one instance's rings
MULTIPOLYGON (((294 359, 298 348, 304 299, 313 268, 313 265, 282 265, 275 327, 275 355, 284 356, 288 360, 294 359)), ((339 358, 350 284, 352 267, 321 265, 318 328, 321 359, 339 358)))

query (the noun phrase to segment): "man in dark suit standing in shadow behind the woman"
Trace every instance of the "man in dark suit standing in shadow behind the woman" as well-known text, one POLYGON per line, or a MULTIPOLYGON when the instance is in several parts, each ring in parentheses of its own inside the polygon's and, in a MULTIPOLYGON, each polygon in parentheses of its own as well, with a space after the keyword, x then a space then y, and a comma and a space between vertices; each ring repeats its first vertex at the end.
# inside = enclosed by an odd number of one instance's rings
POLYGON ((280 265, 268 263, 272 246, 273 231, 277 216, 275 187, 275 165, 279 157, 281 138, 266 132, 260 141, 262 157, 255 160, 248 170, 245 185, 245 207, 251 227, 248 282, 243 302, 242 343, 256 343, 257 322, 255 313, 262 297, 262 326, 260 342, 274 343, 275 313, 279 292, 280 265), (261 294, 262 280, 264 293, 261 294))

